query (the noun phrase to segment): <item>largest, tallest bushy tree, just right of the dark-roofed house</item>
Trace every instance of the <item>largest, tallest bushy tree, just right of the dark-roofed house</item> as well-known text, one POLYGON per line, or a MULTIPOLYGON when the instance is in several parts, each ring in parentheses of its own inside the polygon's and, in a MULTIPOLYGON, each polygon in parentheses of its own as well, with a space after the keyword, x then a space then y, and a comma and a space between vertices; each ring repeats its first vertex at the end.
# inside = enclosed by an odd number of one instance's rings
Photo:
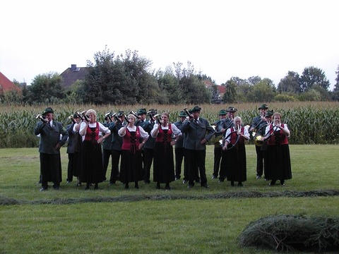
POLYGON ((157 102, 157 80, 150 73, 151 62, 126 50, 114 56, 107 47, 88 61, 89 72, 83 85, 85 101, 95 104, 136 104, 157 102))

